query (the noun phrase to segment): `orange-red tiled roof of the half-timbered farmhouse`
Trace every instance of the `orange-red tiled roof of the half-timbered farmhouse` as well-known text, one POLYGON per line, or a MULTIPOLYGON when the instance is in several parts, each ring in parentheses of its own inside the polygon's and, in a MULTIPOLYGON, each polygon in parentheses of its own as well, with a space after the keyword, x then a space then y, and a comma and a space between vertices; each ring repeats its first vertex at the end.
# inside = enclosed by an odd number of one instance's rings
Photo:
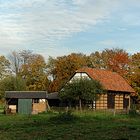
POLYGON ((92 79, 98 80, 106 90, 135 92, 134 89, 125 81, 125 79, 116 72, 103 69, 81 68, 76 71, 84 72, 92 79))

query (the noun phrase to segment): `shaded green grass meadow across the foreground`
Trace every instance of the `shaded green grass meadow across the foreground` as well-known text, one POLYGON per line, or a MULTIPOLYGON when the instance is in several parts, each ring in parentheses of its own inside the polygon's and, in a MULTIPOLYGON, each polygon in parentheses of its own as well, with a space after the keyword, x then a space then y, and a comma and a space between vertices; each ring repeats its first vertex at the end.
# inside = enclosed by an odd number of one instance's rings
POLYGON ((0 140, 139 140, 140 117, 82 112, 0 115, 0 140))

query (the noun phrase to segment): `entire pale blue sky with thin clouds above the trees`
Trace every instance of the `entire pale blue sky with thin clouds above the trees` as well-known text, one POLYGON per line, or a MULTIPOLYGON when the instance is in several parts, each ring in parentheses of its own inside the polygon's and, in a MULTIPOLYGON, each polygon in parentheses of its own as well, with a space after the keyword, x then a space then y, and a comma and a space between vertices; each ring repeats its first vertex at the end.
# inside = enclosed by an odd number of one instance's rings
POLYGON ((0 55, 140 52, 140 0, 0 0, 0 55))

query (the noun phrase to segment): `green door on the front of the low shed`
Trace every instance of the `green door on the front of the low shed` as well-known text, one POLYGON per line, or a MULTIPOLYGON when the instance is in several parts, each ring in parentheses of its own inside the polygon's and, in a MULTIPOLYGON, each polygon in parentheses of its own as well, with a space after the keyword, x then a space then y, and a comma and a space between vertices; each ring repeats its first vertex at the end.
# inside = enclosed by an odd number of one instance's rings
POLYGON ((31 114, 32 112, 32 99, 18 99, 18 113, 31 114))

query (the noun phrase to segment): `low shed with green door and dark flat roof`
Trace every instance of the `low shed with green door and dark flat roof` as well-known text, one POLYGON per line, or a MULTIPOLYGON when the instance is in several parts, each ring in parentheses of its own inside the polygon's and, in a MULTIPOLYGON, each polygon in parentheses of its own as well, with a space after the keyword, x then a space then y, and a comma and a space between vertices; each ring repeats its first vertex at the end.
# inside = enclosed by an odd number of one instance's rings
POLYGON ((46 91, 6 91, 5 98, 7 110, 12 113, 37 114, 46 111, 56 99, 54 104, 58 106, 57 94, 46 91))

